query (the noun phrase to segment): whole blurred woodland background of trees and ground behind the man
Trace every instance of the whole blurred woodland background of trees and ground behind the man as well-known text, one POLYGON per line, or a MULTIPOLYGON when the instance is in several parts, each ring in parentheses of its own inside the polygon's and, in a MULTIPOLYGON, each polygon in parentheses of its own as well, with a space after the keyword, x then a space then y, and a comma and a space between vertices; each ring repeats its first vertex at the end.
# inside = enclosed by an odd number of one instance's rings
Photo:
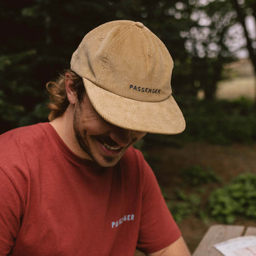
POLYGON ((0 2, 0 134, 47 121, 46 82, 70 67, 84 35, 135 20, 174 59, 181 135, 136 146, 154 169, 191 251, 213 223, 256 226, 256 1, 0 2))

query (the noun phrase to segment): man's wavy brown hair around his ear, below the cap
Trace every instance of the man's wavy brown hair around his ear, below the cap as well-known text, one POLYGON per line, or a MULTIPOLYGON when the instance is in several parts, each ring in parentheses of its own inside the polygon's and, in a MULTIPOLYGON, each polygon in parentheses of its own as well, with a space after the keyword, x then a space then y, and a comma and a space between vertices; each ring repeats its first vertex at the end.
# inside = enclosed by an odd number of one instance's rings
POLYGON ((86 92, 84 89, 84 84, 82 82, 82 78, 78 76, 78 74, 74 73, 72 70, 64 70, 60 73, 60 76, 55 81, 49 81, 46 84, 46 89, 49 93, 50 102, 47 104, 47 107, 51 110, 48 116, 49 121, 62 116, 65 112, 66 108, 70 102, 68 101, 68 97, 66 95, 65 88, 65 74, 69 73, 74 82, 74 89, 76 90, 76 95, 78 97, 79 102, 82 101, 84 97, 84 93, 86 92))

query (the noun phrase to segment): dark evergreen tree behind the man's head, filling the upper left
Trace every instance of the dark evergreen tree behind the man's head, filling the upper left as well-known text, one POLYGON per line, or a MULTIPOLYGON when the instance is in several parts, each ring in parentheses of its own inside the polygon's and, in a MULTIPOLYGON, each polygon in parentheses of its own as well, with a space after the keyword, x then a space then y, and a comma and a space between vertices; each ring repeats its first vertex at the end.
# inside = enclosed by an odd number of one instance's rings
MULTIPOLYGON (((169 1, 30 0, 0 3, 0 133, 47 121, 45 84, 70 67, 71 55, 83 36, 117 19, 148 25, 167 44, 177 63, 186 59, 180 26, 169 14, 169 1)), ((183 23, 184 22, 184 23, 183 23)), ((177 76, 179 68, 175 68, 177 76)))

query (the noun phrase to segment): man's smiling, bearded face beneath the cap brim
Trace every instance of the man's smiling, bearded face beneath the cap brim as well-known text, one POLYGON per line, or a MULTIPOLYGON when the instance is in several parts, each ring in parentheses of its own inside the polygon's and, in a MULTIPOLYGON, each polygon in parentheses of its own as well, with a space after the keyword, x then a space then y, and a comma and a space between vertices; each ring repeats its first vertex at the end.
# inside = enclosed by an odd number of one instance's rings
POLYGON ((76 143, 99 166, 114 166, 127 148, 146 133, 122 129, 106 122, 95 111, 87 95, 74 105, 76 143))

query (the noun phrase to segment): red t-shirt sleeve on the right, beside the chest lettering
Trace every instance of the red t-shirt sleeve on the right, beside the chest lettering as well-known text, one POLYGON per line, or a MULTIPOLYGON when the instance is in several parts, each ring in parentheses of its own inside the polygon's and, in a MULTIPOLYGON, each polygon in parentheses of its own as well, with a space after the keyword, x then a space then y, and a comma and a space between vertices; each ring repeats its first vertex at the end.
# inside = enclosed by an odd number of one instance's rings
POLYGON ((143 198, 137 247, 148 254, 169 246, 180 238, 181 233, 166 206, 153 171, 143 156, 140 159, 143 198))

